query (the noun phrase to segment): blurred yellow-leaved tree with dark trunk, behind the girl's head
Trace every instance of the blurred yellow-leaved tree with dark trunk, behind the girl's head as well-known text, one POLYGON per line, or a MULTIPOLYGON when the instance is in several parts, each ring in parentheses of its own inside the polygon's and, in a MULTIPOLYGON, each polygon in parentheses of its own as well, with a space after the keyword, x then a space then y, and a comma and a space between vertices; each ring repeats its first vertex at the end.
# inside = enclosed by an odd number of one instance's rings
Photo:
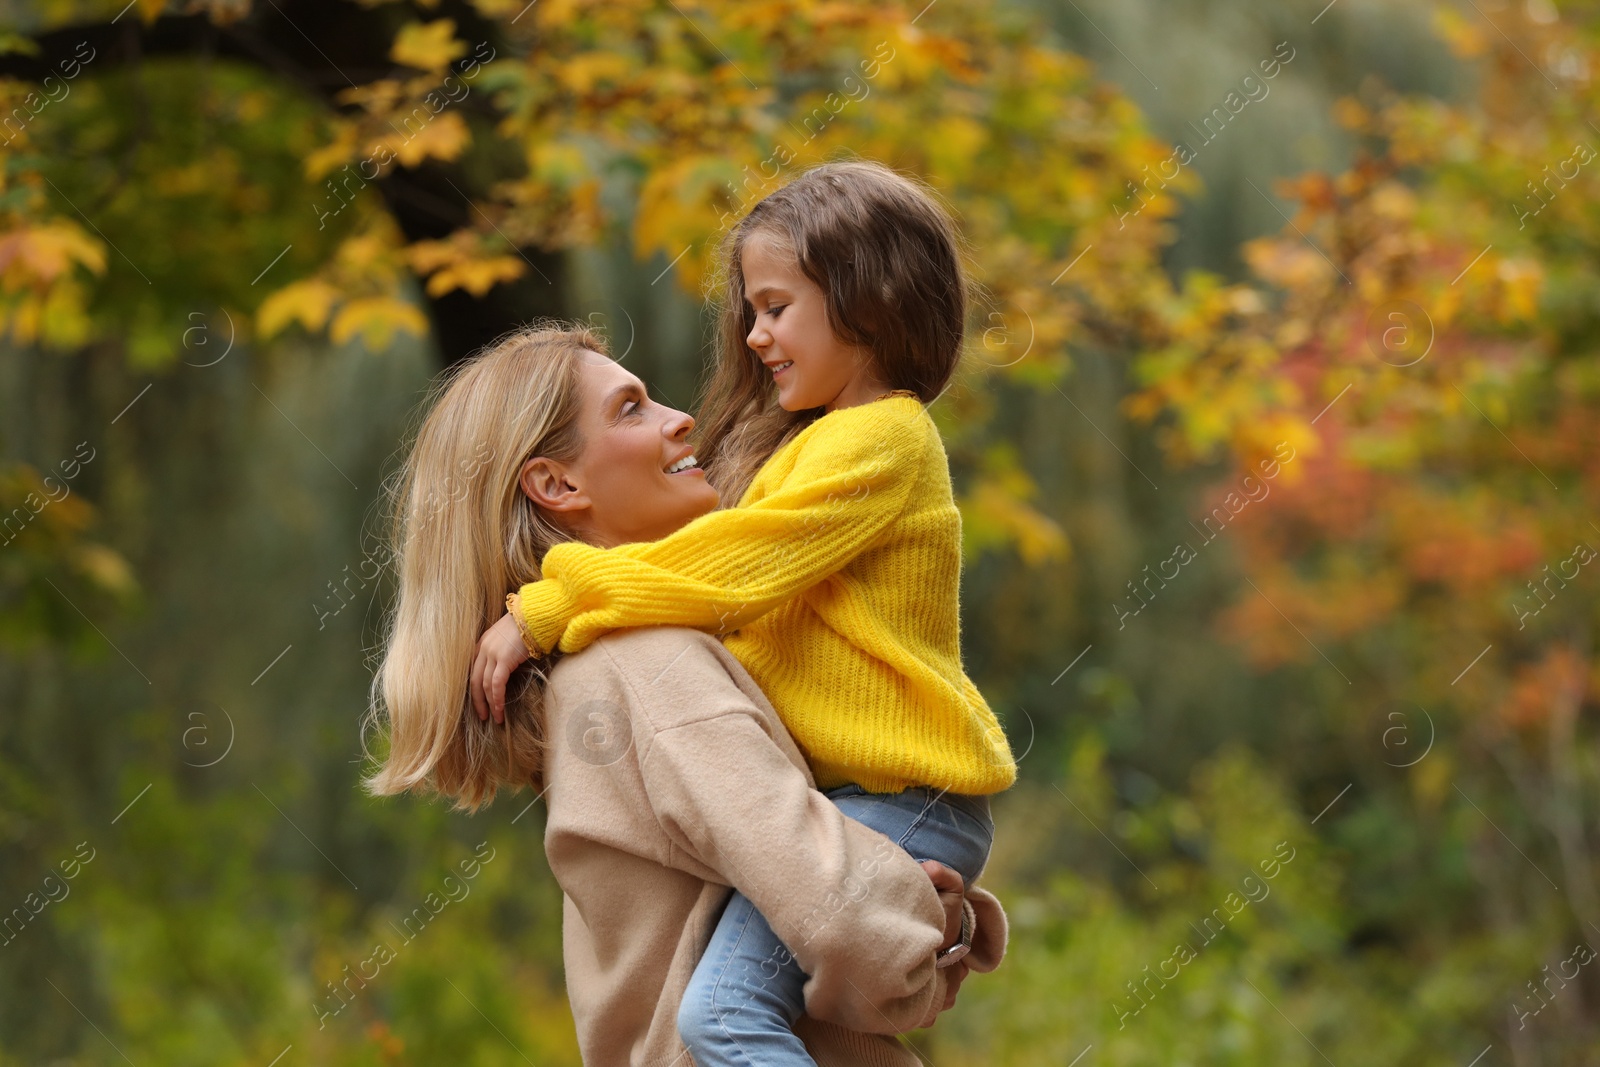
MULTIPOLYGON (((418 280, 456 360, 562 310, 558 253, 605 227, 699 288, 720 227, 798 168, 859 152, 950 198, 989 293, 974 368, 1037 384, 1069 342, 1126 342, 1165 298, 1162 219, 1192 187, 1146 181, 1149 208, 1128 218, 1126 187, 1166 152, 1083 61, 1003 11, 136 6, 45 5, 0 42, 0 331, 16 342, 120 338, 163 366, 208 299, 246 339, 298 326, 382 349, 426 330, 418 280), (179 72, 147 74, 178 56, 179 72), (173 107, 205 120, 179 134, 173 107), (1090 246, 1096 269, 1058 285, 1090 246)), ((1059 553, 1029 477, 981 440, 981 398, 949 408, 973 547, 1059 553)))

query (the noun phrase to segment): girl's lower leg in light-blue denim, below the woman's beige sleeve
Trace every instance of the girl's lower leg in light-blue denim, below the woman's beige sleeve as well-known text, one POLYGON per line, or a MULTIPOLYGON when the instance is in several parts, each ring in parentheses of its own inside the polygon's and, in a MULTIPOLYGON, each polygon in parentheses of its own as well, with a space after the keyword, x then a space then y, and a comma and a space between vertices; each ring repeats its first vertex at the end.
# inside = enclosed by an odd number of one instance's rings
POLYGON ((805 971, 742 893, 728 899, 678 1006, 696 1067, 814 1067, 795 1037, 805 971))

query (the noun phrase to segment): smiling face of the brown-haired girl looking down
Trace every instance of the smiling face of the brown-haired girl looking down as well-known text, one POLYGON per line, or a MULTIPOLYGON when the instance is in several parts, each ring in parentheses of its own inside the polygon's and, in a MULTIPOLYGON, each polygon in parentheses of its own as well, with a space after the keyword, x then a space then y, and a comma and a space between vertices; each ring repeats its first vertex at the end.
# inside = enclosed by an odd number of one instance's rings
POLYGON ((746 344, 771 371, 784 411, 834 411, 888 392, 872 366, 872 352, 834 336, 826 296, 794 256, 755 232, 739 250, 739 267, 744 302, 755 312, 746 344))

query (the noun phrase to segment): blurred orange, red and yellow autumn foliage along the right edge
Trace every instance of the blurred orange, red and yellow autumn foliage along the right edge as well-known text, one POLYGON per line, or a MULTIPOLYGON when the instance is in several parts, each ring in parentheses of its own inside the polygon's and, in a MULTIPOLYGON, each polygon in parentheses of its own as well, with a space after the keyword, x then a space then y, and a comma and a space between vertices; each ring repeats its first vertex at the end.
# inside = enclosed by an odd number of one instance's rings
POLYGON ((1534 1025, 1546 998, 1514 981, 1600 936, 1600 24, 1571 14, 1438 6, 1477 101, 1341 99, 1355 165, 1280 182, 1298 211, 1246 245, 1258 282, 1189 286, 1128 402, 1179 462, 1298 451, 1238 526, 1222 622, 1258 665, 1301 664, 1368 792, 1334 822, 1370 849, 1362 936, 1418 974, 1498 955, 1510 992, 1475 1027, 1518 1062, 1581 1062, 1600 1033, 1592 987, 1534 1025), (1374 840, 1379 811, 1418 832, 1374 840))

